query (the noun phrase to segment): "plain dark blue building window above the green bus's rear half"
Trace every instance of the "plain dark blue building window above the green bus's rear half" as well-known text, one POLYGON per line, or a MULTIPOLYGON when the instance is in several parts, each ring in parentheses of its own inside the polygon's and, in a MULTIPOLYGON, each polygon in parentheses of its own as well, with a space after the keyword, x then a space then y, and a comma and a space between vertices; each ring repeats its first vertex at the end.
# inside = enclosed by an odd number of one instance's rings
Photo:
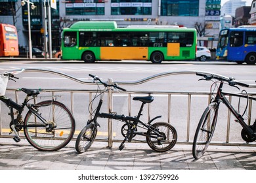
POLYGON ((161 16, 198 16, 199 0, 161 0, 161 16))

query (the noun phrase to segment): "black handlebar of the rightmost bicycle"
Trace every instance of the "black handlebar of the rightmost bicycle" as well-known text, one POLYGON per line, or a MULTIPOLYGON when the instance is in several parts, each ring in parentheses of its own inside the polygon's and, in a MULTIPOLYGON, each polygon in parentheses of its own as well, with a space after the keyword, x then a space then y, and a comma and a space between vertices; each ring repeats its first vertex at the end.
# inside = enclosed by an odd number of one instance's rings
POLYGON ((249 87, 249 84, 246 84, 244 82, 240 82, 238 80, 235 80, 235 78, 227 78, 225 76, 218 76, 218 75, 213 75, 213 74, 205 74, 205 73, 196 73, 197 76, 203 76, 205 78, 205 80, 212 80, 212 79, 217 79, 217 80, 221 80, 224 82, 228 82, 228 84, 230 86, 244 86, 244 87, 249 87))

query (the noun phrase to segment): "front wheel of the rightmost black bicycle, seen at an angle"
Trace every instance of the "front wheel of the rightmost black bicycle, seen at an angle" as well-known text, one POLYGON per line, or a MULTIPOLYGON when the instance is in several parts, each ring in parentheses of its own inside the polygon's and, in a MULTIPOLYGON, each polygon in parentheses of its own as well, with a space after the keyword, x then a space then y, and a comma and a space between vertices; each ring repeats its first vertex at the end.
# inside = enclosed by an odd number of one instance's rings
POLYGON ((192 153, 195 159, 201 158, 207 150, 216 127, 217 116, 217 103, 211 103, 207 108, 205 108, 196 129, 193 142, 192 153))

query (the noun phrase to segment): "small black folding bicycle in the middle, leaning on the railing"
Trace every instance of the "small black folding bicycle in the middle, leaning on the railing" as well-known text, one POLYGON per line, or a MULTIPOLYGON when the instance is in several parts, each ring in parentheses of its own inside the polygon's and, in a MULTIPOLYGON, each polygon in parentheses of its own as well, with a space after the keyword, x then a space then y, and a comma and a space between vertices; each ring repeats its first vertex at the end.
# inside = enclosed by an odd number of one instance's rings
POLYGON ((157 118, 161 118, 161 116, 156 116, 147 124, 140 121, 140 116, 142 116, 142 110, 144 105, 146 103, 151 103, 154 100, 154 97, 146 96, 133 98, 133 100, 135 101, 142 102, 142 105, 137 116, 125 116, 123 114, 119 115, 116 113, 103 113, 100 112, 100 108, 102 107, 104 93, 112 89, 121 90, 123 92, 125 92, 126 90, 120 88, 116 84, 106 84, 105 82, 102 82, 102 80, 100 80, 100 78, 98 78, 97 76, 89 76, 93 77, 94 81, 97 84, 102 84, 104 86, 104 90, 100 91, 100 86, 98 85, 99 93, 96 93, 94 99, 90 104, 92 105, 95 98, 100 96, 98 107, 96 107, 95 109, 93 119, 88 120, 87 125, 83 127, 83 129, 77 137, 77 140, 75 142, 75 149, 77 150, 77 152, 82 153, 87 151, 90 148, 91 144, 93 144, 93 141, 95 141, 98 126, 100 126, 97 122, 97 118, 110 118, 125 123, 121 127, 121 134, 123 135, 123 137, 125 137, 125 139, 123 140, 123 142, 121 142, 119 150, 122 150, 124 148, 125 142, 127 140, 128 142, 131 142, 136 135, 142 135, 146 137, 146 142, 148 143, 148 146, 150 146, 150 148, 152 148, 152 150, 155 150, 156 152, 166 152, 167 150, 170 150, 171 148, 173 148, 173 146, 175 146, 177 142, 177 132, 175 127, 165 122, 156 122, 154 124, 152 123, 157 118), (146 131, 139 132, 138 127, 142 127, 146 129, 146 131))

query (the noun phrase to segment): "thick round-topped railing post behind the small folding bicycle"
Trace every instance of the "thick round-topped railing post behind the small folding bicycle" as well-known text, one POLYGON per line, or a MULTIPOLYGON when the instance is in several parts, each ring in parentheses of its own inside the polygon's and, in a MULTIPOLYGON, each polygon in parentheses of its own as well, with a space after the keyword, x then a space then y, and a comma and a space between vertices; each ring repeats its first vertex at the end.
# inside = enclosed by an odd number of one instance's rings
MULTIPOLYGON (((111 78, 108 79, 108 84, 112 84, 113 80, 111 78)), ((111 113, 113 109, 113 92, 111 88, 108 88, 108 113, 111 113)), ((108 148, 112 148, 113 146, 113 125, 112 119, 108 119, 108 148)))

